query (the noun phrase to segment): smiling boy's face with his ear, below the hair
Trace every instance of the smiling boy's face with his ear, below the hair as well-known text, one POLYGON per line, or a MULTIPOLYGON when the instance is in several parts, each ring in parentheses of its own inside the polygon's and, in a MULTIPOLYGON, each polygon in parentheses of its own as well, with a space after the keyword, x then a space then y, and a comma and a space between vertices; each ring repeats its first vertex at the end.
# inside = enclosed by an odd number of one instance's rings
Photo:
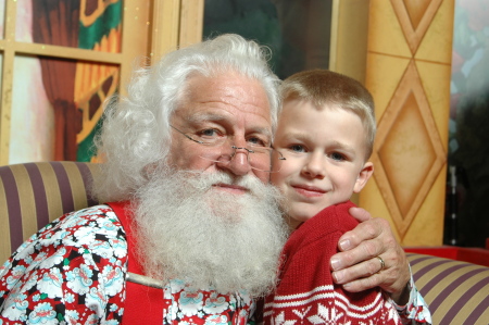
POLYGON ((274 148, 286 161, 271 177, 286 197, 291 227, 363 188, 374 171, 364 162, 365 143, 364 127, 352 112, 285 101, 274 148))

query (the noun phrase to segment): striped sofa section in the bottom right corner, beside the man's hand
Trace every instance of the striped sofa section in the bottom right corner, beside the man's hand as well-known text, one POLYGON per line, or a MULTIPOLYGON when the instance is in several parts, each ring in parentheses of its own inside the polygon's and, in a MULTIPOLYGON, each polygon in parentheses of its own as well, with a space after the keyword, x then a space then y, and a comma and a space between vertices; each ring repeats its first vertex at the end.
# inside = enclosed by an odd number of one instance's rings
POLYGON ((434 324, 489 324, 489 267, 414 253, 408 257, 434 324))

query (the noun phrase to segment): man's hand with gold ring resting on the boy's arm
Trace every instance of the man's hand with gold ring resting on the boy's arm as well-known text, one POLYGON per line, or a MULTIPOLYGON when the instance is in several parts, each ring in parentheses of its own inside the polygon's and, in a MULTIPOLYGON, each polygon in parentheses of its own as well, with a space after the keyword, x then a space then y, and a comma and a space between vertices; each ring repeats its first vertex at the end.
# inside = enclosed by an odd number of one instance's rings
POLYGON ((340 252, 331 258, 335 283, 343 285, 351 292, 379 286, 398 304, 406 303, 409 264, 389 223, 380 217, 372 218, 361 208, 351 208, 350 214, 360 224, 353 230, 344 233, 338 241, 340 252), (381 262, 377 257, 385 262, 381 270, 381 262))

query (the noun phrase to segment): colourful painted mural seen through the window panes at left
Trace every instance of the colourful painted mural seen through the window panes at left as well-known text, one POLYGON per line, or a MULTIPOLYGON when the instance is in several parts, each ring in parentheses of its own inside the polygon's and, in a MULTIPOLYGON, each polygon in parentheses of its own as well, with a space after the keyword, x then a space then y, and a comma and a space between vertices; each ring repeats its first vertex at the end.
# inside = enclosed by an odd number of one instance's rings
MULTIPOLYGON (((122 0, 17 0, 15 40, 120 52, 122 11, 122 0)), ((118 76, 115 65, 16 57, 10 163, 91 161, 118 76)))

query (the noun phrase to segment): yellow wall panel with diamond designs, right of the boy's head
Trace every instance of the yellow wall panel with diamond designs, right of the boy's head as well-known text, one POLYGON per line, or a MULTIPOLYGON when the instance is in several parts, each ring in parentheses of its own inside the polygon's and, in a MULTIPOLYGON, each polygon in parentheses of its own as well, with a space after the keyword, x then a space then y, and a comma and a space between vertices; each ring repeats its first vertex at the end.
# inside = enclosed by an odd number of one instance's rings
POLYGON ((374 178, 360 205, 405 246, 441 245, 454 0, 371 0, 365 85, 374 178))

